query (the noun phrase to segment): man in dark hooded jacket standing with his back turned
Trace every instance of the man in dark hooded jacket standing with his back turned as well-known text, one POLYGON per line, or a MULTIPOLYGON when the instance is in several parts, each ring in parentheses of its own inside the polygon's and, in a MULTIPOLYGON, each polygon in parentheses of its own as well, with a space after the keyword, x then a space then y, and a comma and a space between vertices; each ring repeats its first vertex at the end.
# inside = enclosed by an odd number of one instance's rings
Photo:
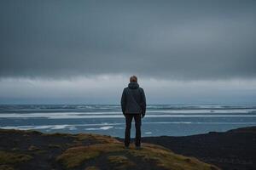
POLYGON ((121 99, 122 112, 125 116, 125 148, 129 148, 131 140, 131 122, 132 118, 135 120, 136 149, 141 148, 141 125, 142 117, 146 113, 146 97, 143 88, 139 87, 137 77, 130 77, 130 83, 127 88, 124 88, 121 99))

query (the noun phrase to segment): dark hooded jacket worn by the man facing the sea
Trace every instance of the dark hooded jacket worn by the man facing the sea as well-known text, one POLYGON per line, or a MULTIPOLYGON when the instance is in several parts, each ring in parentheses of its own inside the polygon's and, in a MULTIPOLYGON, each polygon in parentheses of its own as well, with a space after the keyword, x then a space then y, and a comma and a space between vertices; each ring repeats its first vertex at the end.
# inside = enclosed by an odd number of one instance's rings
POLYGON ((140 88, 137 82, 130 82, 128 87, 124 88, 121 106, 124 115, 141 113, 145 116, 146 97, 143 88, 140 88))

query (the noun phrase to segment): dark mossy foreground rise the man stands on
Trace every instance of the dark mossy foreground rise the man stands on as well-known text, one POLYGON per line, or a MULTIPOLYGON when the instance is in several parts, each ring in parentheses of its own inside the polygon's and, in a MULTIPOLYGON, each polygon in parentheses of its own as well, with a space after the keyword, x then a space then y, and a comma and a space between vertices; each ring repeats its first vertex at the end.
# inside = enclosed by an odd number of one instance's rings
POLYGON ((157 144, 125 149, 110 136, 0 129, 0 170, 218 170, 157 144))

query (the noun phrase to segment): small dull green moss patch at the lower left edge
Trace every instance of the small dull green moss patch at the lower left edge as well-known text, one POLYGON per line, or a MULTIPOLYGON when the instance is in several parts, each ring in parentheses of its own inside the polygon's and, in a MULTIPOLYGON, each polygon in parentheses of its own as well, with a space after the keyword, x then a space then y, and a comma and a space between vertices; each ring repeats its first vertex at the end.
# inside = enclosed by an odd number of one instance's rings
POLYGON ((1 164, 17 164, 20 162, 30 161, 32 156, 19 154, 19 153, 12 153, 0 150, 0 162, 1 164))

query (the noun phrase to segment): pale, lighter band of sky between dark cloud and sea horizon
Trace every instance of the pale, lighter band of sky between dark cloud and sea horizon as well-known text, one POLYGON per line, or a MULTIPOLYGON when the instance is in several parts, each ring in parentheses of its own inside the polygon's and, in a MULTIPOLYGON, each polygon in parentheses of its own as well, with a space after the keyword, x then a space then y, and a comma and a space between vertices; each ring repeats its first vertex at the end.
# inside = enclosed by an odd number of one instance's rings
MULTIPOLYGON (((5 78, 0 104, 118 104, 129 79, 123 76, 72 80, 5 78)), ((255 104, 256 80, 174 81, 139 78, 148 104, 255 104)))

